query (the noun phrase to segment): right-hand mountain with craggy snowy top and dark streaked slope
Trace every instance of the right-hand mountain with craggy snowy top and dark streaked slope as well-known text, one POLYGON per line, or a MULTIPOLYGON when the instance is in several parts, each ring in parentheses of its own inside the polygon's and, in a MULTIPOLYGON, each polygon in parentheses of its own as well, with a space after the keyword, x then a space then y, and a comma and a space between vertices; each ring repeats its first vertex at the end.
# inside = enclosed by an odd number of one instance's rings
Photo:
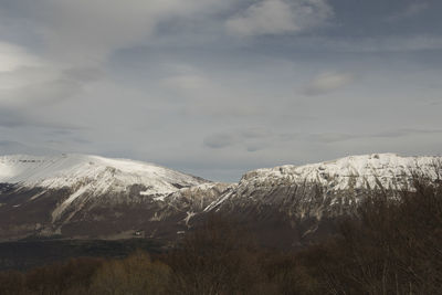
POLYGON ((440 157, 379 154, 257 169, 204 211, 250 223, 271 245, 302 245, 333 232, 334 220, 354 213, 376 190, 393 196, 410 187, 413 173, 440 178, 441 164, 440 157))

